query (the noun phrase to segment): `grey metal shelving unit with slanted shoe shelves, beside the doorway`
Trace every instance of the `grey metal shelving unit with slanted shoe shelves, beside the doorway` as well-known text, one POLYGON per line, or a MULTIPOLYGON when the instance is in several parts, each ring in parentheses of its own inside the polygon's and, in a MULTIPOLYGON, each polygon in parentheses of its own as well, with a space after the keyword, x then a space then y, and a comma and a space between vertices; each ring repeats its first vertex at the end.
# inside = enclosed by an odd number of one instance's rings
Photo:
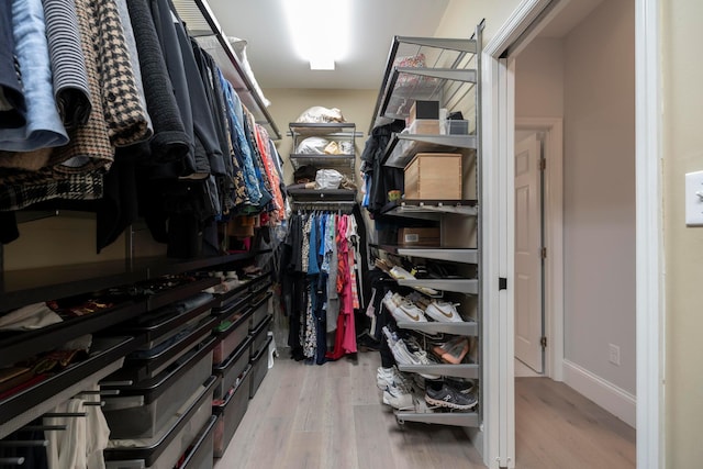
MULTIPOLYGON (((406 287, 428 287, 460 299, 459 311, 465 322, 399 323, 399 327, 423 333, 467 336, 472 342, 469 362, 399 366, 401 371, 426 372, 446 377, 473 379, 478 409, 471 412, 435 412, 427 409, 395 411, 399 423, 424 422, 462 427, 480 427, 483 402, 480 345, 483 311, 481 291, 481 144, 480 144, 480 49, 483 24, 472 38, 405 37, 393 38, 386 74, 380 87, 371 130, 393 120, 406 119, 415 100, 434 100, 448 112, 461 111, 469 116, 468 134, 397 133, 386 147, 382 163, 405 168, 419 153, 456 152, 462 155, 461 200, 405 200, 388 208, 383 215, 438 222, 439 246, 371 245, 387 254, 409 259, 453 263, 462 278, 398 280, 406 287), (424 67, 399 67, 404 57, 424 56, 424 67)), ((466 119, 466 118, 465 118, 466 119)), ((369 131, 370 133, 370 131, 369 131)))

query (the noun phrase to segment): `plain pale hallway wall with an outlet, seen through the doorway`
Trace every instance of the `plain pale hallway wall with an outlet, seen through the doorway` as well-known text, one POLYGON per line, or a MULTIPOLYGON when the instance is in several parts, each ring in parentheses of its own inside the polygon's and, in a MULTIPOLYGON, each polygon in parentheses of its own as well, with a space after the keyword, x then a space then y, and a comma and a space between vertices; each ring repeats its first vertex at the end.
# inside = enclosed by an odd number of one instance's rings
POLYGON ((565 355, 635 394, 634 2, 603 2, 563 55, 565 355))

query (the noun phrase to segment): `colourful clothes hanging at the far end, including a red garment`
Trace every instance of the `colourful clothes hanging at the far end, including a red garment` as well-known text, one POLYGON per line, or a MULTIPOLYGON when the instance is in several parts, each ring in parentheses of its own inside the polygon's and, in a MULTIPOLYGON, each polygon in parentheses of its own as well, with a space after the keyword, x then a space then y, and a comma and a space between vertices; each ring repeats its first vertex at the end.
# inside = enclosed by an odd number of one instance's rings
POLYGON ((360 280, 357 238, 349 214, 290 216, 279 278, 292 358, 322 365, 357 351, 355 312, 362 304, 355 284, 360 280), (301 279, 304 287, 297 288, 301 279))

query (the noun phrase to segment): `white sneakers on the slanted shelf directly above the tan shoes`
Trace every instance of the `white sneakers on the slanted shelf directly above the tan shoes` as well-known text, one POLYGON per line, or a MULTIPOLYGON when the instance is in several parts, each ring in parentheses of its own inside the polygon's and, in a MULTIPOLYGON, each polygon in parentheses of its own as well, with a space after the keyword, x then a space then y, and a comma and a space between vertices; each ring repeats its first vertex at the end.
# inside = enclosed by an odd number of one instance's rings
POLYGON ((383 297, 383 304, 398 322, 427 322, 427 317, 437 322, 464 322, 456 305, 446 301, 432 300, 411 293, 403 298, 390 290, 383 297))

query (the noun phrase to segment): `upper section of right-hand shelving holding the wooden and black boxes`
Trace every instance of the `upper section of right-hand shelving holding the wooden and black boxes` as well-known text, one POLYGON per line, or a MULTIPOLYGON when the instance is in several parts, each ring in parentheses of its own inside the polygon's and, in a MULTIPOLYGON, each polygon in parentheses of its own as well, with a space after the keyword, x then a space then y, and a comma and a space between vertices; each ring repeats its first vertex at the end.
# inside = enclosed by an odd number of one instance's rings
POLYGON ((477 42, 395 36, 373 126, 403 120, 384 166, 404 169, 404 194, 389 214, 476 215, 477 42))

